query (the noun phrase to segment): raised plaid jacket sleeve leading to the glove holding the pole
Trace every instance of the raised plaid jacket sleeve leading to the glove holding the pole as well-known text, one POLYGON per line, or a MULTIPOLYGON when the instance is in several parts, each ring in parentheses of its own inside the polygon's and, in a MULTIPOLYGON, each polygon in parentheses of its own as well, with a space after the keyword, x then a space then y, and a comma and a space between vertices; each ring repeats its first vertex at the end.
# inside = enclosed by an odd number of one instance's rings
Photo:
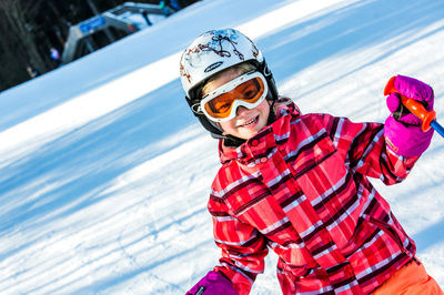
POLYGON ((404 157, 387 149, 382 123, 353 123, 324 115, 330 136, 351 170, 385 184, 403 181, 420 156, 404 157))

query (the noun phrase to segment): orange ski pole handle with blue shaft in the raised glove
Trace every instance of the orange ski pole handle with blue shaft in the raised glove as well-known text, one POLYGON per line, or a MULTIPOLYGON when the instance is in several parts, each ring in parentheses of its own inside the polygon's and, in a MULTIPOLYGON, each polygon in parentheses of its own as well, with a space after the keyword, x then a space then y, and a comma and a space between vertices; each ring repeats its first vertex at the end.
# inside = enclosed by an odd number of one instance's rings
POLYGON ((425 110, 424 105, 422 105, 420 102, 408 99, 401 93, 397 92, 394 85, 395 77, 392 77, 387 84, 385 85, 384 89, 384 95, 389 95, 391 93, 396 92, 401 96, 401 102, 402 104, 405 105, 405 108, 408 109, 414 115, 420 118, 423 121, 423 124, 421 126, 422 131, 426 132, 431 128, 436 130, 437 133, 440 133, 441 136, 444 138, 444 128, 436 121, 436 112, 435 111, 427 111, 425 110))

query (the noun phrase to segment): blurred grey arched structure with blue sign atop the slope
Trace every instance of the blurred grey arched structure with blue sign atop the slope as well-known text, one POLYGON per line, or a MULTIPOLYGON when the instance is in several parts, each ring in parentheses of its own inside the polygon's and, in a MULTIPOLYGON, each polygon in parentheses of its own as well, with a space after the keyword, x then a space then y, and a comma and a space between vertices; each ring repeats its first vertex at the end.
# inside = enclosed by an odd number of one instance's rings
POLYGON ((140 31, 172 14, 173 10, 148 3, 125 2, 71 26, 63 49, 62 63, 87 55, 118 39, 140 31))

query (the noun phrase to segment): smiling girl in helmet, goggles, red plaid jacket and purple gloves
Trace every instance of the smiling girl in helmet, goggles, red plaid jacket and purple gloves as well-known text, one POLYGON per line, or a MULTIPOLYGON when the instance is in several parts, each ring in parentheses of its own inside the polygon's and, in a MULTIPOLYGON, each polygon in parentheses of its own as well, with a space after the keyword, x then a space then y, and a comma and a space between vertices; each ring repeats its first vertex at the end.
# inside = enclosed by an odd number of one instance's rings
MULTIPOLYGON (((208 204, 222 257, 188 294, 249 294, 269 248, 284 294, 443 294, 367 180, 401 182, 431 142, 398 94, 385 125, 302 114, 233 29, 195 39, 180 74, 222 162, 208 204)), ((394 85, 433 109, 427 84, 397 75, 394 85)))

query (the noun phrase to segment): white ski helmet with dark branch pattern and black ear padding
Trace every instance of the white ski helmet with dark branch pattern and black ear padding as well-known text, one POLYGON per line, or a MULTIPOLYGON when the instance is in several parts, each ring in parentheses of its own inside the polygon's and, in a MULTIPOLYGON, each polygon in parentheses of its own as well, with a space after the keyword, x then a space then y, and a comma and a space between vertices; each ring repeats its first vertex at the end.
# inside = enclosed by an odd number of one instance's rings
POLYGON ((250 62, 261 72, 270 89, 269 99, 278 99, 273 74, 258 47, 246 35, 234 29, 211 30, 199 35, 182 53, 180 77, 194 115, 215 139, 226 139, 221 128, 198 111, 202 88, 209 79, 230 67, 250 62))

